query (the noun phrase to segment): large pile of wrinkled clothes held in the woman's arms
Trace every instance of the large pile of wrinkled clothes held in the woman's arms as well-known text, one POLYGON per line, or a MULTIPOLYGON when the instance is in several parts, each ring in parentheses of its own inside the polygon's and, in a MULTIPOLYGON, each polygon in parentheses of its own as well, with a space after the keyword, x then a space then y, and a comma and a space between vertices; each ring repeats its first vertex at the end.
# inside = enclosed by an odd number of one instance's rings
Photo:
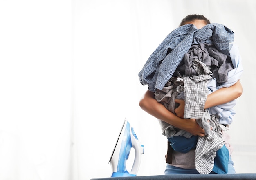
POLYGON ((221 130, 226 128, 222 124, 232 123, 236 101, 207 110, 204 104, 208 94, 232 86, 240 79, 243 67, 233 40, 234 32, 221 24, 207 24, 201 29, 192 24, 181 26, 165 38, 139 72, 141 83, 155 92, 158 102, 174 113, 178 106, 174 100, 183 99, 184 118, 196 119, 204 128, 206 136, 195 138, 159 120, 175 151, 186 153, 195 148, 195 167, 201 174, 210 173, 214 163, 215 167, 216 163, 223 163, 223 159, 214 162, 216 151, 228 153, 222 148, 221 130), (182 143, 175 143, 181 140, 182 143))

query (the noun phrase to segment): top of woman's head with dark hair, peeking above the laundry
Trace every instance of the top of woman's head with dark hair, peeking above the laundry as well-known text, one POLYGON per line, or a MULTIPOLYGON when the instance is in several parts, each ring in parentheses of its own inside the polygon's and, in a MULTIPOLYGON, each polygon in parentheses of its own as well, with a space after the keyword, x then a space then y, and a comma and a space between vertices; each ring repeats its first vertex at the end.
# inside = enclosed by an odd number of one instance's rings
POLYGON ((185 24, 194 24, 198 29, 202 28, 203 26, 210 24, 210 20, 205 18, 203 15, 198 14, 191 14, 187 15, 181 22, 180 26, 185 24))

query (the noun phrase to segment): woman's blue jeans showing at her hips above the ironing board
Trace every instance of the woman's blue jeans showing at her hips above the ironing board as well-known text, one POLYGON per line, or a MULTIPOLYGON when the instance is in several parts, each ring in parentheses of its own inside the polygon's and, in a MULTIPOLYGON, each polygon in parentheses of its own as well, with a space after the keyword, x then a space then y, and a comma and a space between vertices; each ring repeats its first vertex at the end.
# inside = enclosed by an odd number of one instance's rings
MULTIPOLYGON (((234 162, 232 161, 231 157, 229 156, 229 164, 228 164, 228 174, 234 174, 236 173, 234 167, 234 162)), ((175 167, 170 164, 166 165, 166 169, 164 171, 165 175, 169 174, 199 174, 196 169, 183 169, 180 167, 175 167)), ((216 174, 215 172, 211 171, 211 174, 216 174)))

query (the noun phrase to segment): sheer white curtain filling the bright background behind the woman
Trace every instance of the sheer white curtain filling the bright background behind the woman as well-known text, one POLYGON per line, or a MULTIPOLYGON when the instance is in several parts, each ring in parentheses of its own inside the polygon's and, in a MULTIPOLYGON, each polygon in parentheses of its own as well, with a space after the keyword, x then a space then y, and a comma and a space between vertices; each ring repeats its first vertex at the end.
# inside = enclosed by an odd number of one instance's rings
POLYGON ((232 158, 236 173, 255 173, 255 9, 254 0, 0 1, 0 179, 110 177, 125 118, 145 147, 138 176, 163 174, 166 138, 139 108, 147 87, 137 74, 194 13, 235 32, 244 72, 232 158))

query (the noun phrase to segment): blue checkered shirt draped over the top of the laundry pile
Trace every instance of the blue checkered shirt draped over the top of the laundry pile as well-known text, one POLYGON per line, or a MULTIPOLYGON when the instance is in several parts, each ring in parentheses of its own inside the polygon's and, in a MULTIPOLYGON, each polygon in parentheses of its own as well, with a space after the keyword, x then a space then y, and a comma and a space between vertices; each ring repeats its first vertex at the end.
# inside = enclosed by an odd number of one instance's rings
POLYGON ((220 53, 229 55, 229 43, 233 41, 234 32, 222 24, 207 24, 201 29, 197 29, 193 24, 180 26, 150 55, 139 72, 140 82, 147 84, 152 92, 156 89, 162 90, 193 44, 214 44, 220 53), (171 53, 166 56, 168 49, 171 49, 171 53))

